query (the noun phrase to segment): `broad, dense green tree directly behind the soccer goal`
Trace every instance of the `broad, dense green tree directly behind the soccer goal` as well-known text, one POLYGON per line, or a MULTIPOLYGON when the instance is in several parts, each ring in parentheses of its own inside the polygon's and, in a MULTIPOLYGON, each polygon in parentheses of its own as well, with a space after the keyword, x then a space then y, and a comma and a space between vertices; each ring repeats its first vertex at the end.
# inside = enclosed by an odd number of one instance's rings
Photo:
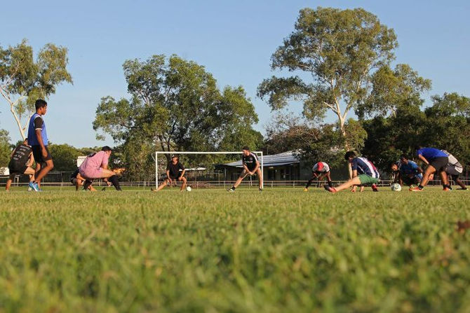
POLYGON ((122 145, 126 167, 135 169, 130 172, 152 167, 152 160, 135 160, 133 153, 217 151, 244 144, 257 148, 262 143, 252 127, 258 119, 245 90, 226 87, 221 92, 201 65, 176 55, 154 55, 143 62, 127 60, 123 69, 130 99, 103 97, 93 128, 98 138, 109 134, 122 145), (143 163, 130 165, 131 160, 143 163))

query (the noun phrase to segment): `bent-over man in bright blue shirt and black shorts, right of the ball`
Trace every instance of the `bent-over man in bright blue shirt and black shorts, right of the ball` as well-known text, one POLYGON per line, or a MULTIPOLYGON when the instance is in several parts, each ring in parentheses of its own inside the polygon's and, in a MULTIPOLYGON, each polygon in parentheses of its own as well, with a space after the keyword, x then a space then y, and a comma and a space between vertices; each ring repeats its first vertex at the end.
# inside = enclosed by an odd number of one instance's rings
POLYGON ((423 179, 419 186, 415 188, 410 188, 410 191, 422 191, 424 186, 429 181, 429 177, 434 174, 435 172, 439 173, 441 176, 441 180, 443 183, 443 190, 448 191, 450 190, 448 185, 447 174, 445 174, 445 169, 447 168, 449 158, 443 151, 436 149, 436 148, 423 148, 422 146, 416 147, 416 155, 419 160, 426 163, 428 167, 423 174, 423 179))

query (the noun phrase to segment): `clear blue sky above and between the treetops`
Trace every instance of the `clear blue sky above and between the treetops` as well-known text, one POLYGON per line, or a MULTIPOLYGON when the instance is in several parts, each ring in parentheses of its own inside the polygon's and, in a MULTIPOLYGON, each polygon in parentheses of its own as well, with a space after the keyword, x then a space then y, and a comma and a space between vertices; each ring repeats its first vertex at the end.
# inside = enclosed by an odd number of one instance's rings
MULTIPOLYGON (((260 116, 256 128, 264 132, 271 112, 257 99, 256 88, 271 76, 269 58, 293 31, 304 7, 365 8, 395 29, 400 44, 396 62, 408 63, 432 80, 427 99, 443 92, 470 96, 469 1, 68 2, 2 4, 1 46, 28 39, 35 51, 49 42, 69 49, 74 85, 59 86, 48 99, 46 123, 55 144, 104 144, 95 139, 91 123, 101 97, 126 97, 123 61, 162 53, 205 66, 221 88, 243 85, 260 116)), ((0 101, 0 128, 8 130, 15 142, 19 132, 6 102, 0 101)))

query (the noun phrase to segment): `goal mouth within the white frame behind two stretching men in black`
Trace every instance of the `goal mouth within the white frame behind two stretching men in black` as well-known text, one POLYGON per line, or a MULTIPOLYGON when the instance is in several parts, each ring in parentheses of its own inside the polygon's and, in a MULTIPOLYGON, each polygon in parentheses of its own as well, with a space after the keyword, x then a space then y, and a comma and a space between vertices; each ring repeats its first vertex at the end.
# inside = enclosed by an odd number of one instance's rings
MULTIPOLYGON (((260 161, 261 173, 264 176, 262 151, 251 151, 260 161)), ((228 188, 238 179, 243 171, 240 151, 200 152, 200 151, 156 151, 155 152, 155 186, 166 179, 166 166, 171 155, 178 155, 184 166, 187 185, 192 188, 228 188)), ((257 186, 257 176, 248 176, 242 184, 257 186)), ((264 181, 264 180, 263 180, 264 181)), ((243 186, 242 185, 242 186, 243 186)))

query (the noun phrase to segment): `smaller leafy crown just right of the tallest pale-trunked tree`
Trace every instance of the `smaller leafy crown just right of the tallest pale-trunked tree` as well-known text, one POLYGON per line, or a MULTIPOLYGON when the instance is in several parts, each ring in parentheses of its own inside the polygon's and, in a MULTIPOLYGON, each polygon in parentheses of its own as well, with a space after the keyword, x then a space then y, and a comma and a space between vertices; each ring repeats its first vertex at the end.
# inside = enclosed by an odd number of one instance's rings
POLYGON ((384 65, 371 77, 372 90, 365 102, 356 106, 359 118, 396 115, 398 108, 419 108, 424 103, 422 92, 431 89, 431 81, 422 78, 408 64, 398 64, 392 70, 384 65))

